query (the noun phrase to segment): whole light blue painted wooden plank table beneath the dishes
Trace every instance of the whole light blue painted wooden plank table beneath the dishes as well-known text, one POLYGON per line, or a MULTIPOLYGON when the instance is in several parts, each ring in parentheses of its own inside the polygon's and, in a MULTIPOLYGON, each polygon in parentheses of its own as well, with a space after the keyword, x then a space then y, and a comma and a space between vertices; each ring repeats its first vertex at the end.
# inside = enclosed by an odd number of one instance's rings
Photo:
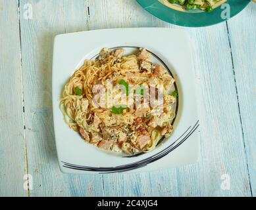
POLYGON ((256 196, 255 20, 250 3, 228 22, 183 28, 199 79, 199 163, 129 175, 64 175, 51 100, 55 35, 180 27, 151 16, 135 0, 1 0, 0 196, 256 196))

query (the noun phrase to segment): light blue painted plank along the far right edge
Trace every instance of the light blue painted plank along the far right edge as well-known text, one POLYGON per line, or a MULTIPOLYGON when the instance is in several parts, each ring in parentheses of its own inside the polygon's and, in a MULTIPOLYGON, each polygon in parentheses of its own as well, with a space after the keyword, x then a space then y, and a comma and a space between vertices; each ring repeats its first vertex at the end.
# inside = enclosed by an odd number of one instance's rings
POLYGON ((234 72, 247 152, 251 191, 256 196, 256 4, 228 21, 234 72))

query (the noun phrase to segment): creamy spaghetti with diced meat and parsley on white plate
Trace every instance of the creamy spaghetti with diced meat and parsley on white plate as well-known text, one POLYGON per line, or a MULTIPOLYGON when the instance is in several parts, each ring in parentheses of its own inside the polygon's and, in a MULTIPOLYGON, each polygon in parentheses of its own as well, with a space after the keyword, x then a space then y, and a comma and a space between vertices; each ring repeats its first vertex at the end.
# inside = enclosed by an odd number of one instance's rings
POLYGON ((64 86, 61 111, 71 129, 103 150, 149 152, 173 132, 174 78, 140 49, 102 49, 64 86))

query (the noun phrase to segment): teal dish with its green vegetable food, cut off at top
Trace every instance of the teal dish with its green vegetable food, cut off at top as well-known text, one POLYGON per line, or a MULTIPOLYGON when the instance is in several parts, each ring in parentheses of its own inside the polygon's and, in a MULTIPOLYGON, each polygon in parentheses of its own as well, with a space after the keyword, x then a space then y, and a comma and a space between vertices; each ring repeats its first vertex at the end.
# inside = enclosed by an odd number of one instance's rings
POLYGON ((207 4, 205 4, 205 0, 137 1, 141 7, 157 18, 171 24, 186 27, 203 27, 218 24, 232 18, 250 3, 250 0, 208 0, 207 4), (184 1, 184 5, 182 5, 182 1, 184 1), (200 7, 193 6, 200 3, 203 3, 200 7))

